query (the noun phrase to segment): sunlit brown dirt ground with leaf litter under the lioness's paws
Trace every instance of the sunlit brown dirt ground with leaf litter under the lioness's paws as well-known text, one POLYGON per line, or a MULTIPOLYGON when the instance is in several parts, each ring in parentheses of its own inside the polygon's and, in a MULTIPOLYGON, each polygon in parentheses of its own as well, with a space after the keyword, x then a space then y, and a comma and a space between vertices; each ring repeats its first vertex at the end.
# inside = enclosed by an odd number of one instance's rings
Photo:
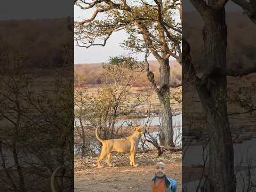
POLYGON ((158 157, 156 151, 137 154, 138 167, 131 167, 127 154, 111 156, 109 167, 102 161, 103 168, 96 166, 97 157, 75 158, 76 192, 149 192, 154 165, 158 161, 166 163, 166 175, 177 180, 177 191, 181 192, 181 152, 165 152, 158 157))

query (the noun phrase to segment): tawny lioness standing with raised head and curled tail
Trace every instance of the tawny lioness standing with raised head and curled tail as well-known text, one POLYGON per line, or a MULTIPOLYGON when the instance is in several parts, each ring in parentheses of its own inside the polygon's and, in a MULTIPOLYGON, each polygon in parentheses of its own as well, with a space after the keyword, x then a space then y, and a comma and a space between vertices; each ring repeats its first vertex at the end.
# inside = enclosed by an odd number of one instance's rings
POLYGON ((98 129, 95 130, 95 135, 97 139, 102 143, 102 149, 101 154, 98 158, 98 167, 101 168, 100 161, 106 158, 106 162, 109 166, 113 166, 110 163, 110 156, 113 151, 116 151, 118 153, 130 153, 130 165, 137 167, 138 165, 135 164, 135 155, 137 152, 137 147, 139 145, 139 141, 141 136, 145 133, 145 126, 137 126, 134 127, 134 131, 132 135, 125 139, 108 139, 108 140, 102 140, 100 139, 98 135, 98 129))

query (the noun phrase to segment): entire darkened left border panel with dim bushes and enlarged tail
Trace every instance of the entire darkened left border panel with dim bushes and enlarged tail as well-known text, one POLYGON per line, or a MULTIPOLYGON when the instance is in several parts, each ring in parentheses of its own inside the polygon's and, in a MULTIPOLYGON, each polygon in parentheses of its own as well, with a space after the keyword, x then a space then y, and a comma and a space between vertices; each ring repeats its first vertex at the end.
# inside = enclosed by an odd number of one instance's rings
POLYGON ((0 190, 74 191, 74 2, 0 10, 0 190))

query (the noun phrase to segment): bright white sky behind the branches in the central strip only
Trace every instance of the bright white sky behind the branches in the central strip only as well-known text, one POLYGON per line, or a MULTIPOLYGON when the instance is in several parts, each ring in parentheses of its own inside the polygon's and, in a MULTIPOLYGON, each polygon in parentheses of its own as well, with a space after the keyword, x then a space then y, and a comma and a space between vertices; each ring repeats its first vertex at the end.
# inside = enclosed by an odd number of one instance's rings
MULTIPOLYGON (((92 11, 81 10, 79 7, 75 6, 74 16, 75 20, 81 20, 81 18, 91 17, 92 11)), ((177 15, 177 19, 179 15, 177 15)), ((89 49, 85 47, 74 47, 74 60, 77 63, 101 63, 107 62, 109 57, 115 57, 120 55, 131 54, 131 51, 124 50, 120 44, 124 41, 126 34, 124 31, 118 31, 111 35, 108 39, 106 45, 103 46, 91 46, 89 49)), ((136 57, 137 60, 144 60, 145 55, 143 53, 131 54, 136 57)), ((171 60, 174 58, 170 58, 171 60)), ((150 55, 148 60, 156 60, 153 55, 150 55)))

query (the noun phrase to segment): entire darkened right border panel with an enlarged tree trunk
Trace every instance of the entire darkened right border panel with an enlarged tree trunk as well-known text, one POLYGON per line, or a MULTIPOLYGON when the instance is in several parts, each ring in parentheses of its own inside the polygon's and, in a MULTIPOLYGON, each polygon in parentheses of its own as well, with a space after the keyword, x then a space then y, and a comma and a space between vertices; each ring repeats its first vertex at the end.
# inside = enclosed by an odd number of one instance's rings
POLYGON ((256 190, 255 1, 183 1, 182 191, 256 190))

